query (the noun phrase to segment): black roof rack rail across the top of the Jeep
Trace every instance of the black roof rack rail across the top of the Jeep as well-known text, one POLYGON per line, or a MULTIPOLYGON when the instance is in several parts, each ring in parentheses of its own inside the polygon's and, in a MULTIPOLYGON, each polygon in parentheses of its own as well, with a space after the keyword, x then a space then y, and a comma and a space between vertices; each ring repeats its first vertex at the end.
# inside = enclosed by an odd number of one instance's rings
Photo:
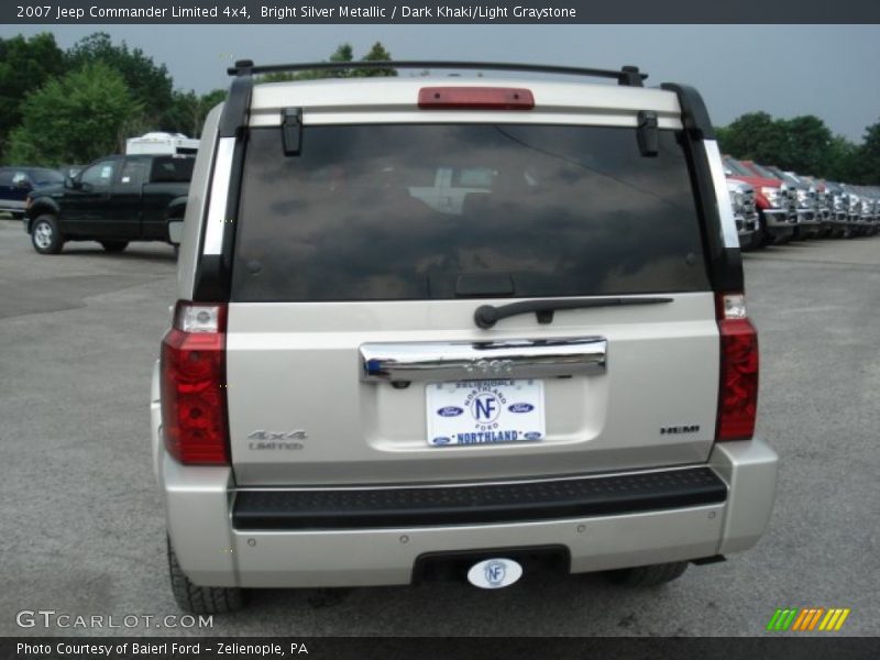
POLYGON ((503 62, 442 62, 400 61, 400 62, 312 62, 299 64, 270 64, 255 66, 251 59, 239 59, 235 66, 229 67, 230 76, 250 76, 255 74, 276 74, 305 70, 341 70, 341 69, 375 69, 375 68, 448 68, 448 69, 492 69, 499 72, 529 72, 538 74, 560 74, 569 76, 592 76, 594 78, 614 78, 618 85, 628 87, 644 87, 642 80, 648 74, 639 72, 637 66, 624 66, 619 70, 581 68, 574 66, 549 66, 541 64, 509 64, 503 62))

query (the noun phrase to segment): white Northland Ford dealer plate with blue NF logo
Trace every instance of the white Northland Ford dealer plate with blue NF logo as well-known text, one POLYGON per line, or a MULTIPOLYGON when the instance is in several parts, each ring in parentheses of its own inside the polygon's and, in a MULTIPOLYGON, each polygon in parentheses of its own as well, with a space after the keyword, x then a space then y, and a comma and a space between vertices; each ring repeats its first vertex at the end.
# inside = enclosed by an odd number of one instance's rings
POLYGON ((542 381, 430 383, 428 444, 534 442, 546 433, 542 381))

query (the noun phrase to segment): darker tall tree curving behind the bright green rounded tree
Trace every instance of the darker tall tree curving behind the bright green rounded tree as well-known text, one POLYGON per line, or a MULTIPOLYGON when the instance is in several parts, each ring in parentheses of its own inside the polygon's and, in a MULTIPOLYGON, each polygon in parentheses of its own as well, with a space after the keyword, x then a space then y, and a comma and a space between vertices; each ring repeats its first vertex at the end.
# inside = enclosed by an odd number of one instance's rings
POLYGON ((174 102, 173 80, 164 64, 156 66, 141 48, 130 50, 124 41, 121 45, 113 44, 106 32, 80 40, 67 52, 69 69, 96 62, 103 62, 122 75, 133 98, 143 107, 145 125, 163 123, 174 102))

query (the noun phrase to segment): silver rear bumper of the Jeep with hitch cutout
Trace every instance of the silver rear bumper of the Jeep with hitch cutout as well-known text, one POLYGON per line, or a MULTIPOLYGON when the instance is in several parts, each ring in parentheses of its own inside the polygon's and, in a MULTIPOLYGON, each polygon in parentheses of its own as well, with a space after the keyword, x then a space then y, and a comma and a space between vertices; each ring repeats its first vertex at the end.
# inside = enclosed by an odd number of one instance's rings
MULTIPOLYGON (((318 492, 311 505, 290 497, 292 491, 248 496, 235 491, 229 468, 185 466, 164 452, 158 459, 168 534, 184 572, 197 584, 245 587, 408 584, 419 557, 436 552, 560 546, 569 552, 572 572, 587 572, 745 550, 755 544, 770 518, 778 460, 759 440, 727 442, 715 446, 707 465, 581 477, 584 487, 575 495, 583 506, 552 517, 532 512, 529 520, 487 522, 493 512, 477 502, 470 519, 418 525, 421 520, 391 516, 358 527, 344 516, 337 521, 326 515, 306 520, 302 513, 308 506, 327 513, 332 499, 327 498, 328 491, 318 492), (693 475, 694 487, 672 476, 684 471, 693 475), (616 504, 595 508, 602 501, 616 504), (289 509, 292 502, 297 506, 289 509), (274 522, 266 518, 273 510, 283 514, 274 522)), ((510 484, 502 487, 509 490, 510 484)), ((418 490, 428 508, 437 508, 438 497, 430 488, 418 490)), ((386 499, 388 491, 376 491, 375 502, 394 512, 400 503, 386 499)), ((474 494, 463 488, 458 496, 447 495, 452 508, 474 501, 474 494)), ((543 496, 553 499, 560 493, 551 488, 543 496)), ((351 508, 353 501, 346 497, 334 501, 334 506, 341 502, 351 508)), ((516 497, 507 493, 504 499, 516 497)), ((526 504, 534 505, 534 498, 526 504)))

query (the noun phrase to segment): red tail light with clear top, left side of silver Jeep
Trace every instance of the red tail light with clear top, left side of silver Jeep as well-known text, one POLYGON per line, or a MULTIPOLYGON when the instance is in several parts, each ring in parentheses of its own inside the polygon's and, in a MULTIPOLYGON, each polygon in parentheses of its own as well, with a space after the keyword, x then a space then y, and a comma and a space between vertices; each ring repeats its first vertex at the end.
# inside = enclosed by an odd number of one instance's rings
POLYGON ((162 341, 165 448, 182 463, 229 464, 224 305, 178 302, 162 341))

